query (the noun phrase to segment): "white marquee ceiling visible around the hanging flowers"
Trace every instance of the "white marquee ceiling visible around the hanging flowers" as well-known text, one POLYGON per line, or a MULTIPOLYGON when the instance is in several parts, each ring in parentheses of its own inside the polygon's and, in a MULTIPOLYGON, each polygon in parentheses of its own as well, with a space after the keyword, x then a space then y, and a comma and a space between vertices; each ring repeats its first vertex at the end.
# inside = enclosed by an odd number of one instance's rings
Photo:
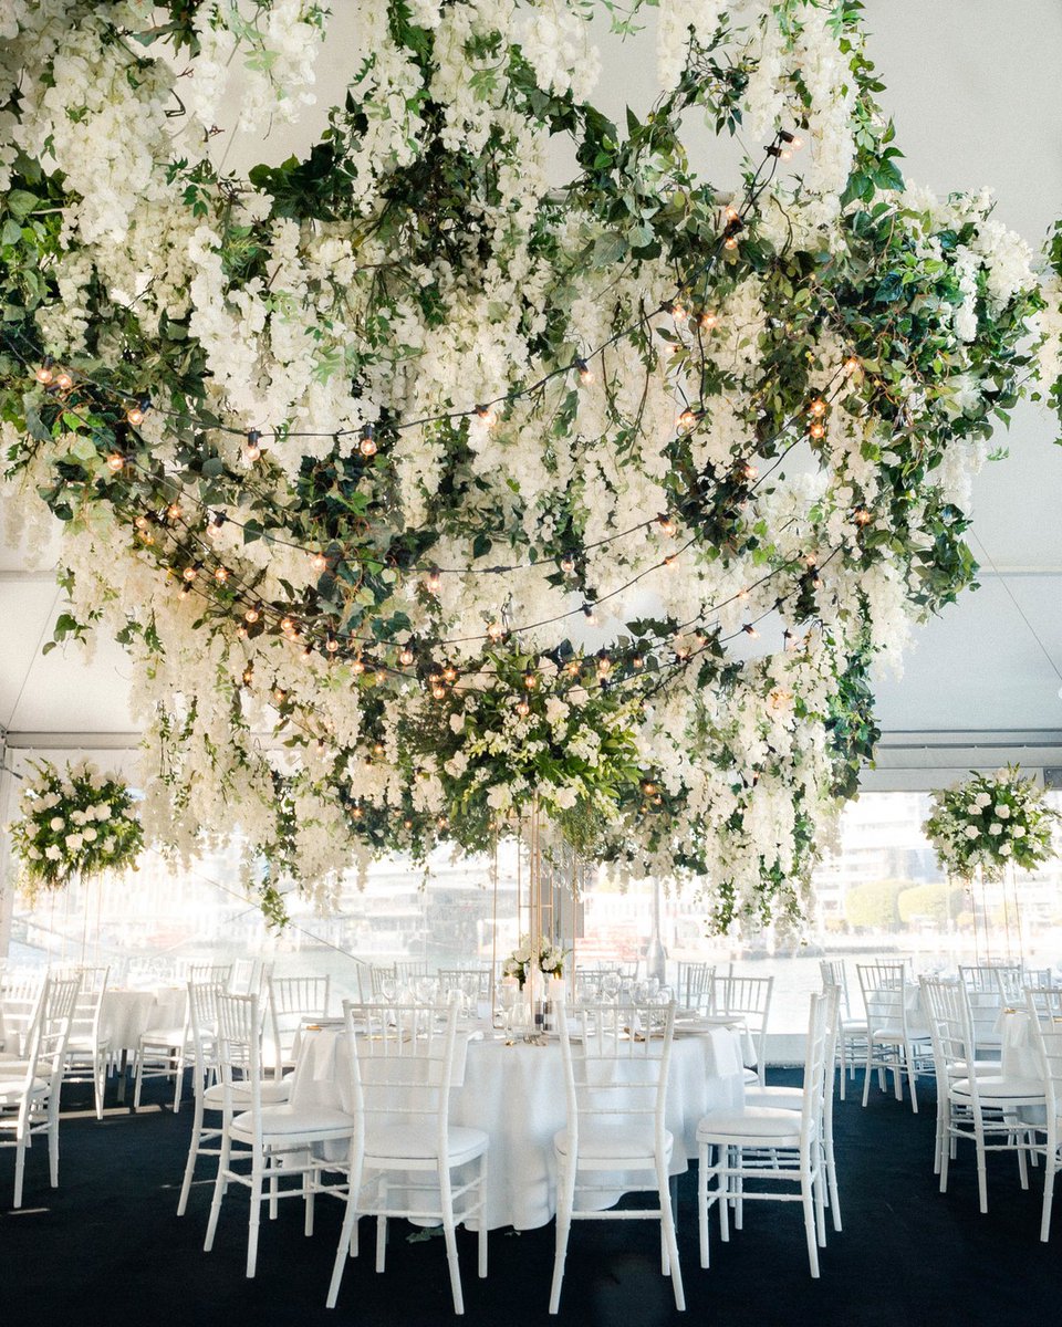
MULTIPOLYGON (((279 161, 312 141, 331 90, 342 84, 349 46, 342 29, 353 7, 333 7, 336 32, 321 57, 319 106, 295 130, 267 143, 226 142, 227 167, 279 161)), ((888 84, 908 176, 947 194, 990 183, 998 216, 1038 244, 1062 214, 1062 5, 1057 0, 868 0, 871 54, 888 84)), ((653 96, 652 33, 625 44, 605 38, 599 102, 619 114, 653 96)), ((222 149, 219 149, 222 150, 222 149)), ((704 169, 727 178, 727 161, 708 135, 696 142, 704 169)), ((564 163, 558 162, 559 173, 564 163)), ((1016 413, 1006 460, 974 486, 972 545, 982 588, 962 596, 916 634, 901 678, 879 679, 883 727, 903 740, 964 733, 1041 734, 1062 742, 1062 449, 1046 411, 1016 413)), ((0 504, 0 527, 11 528, 0 504)), ((100 641, 86 662, 77 646, 41 654, 60 596, 46 568, 50 548, 0 547, 0 726, 13 744, 57 742, 61 734, 118 735, 133 730, 130 665, 100 641), (45 571, 33 571, 45 568, 45 571), (50 738, 49 738, 50 735, 50 738)), ((90 744, 85 738, 76 744, 90 744)), ((1059 760, 1062 763, 1062 760, 1059 760)))

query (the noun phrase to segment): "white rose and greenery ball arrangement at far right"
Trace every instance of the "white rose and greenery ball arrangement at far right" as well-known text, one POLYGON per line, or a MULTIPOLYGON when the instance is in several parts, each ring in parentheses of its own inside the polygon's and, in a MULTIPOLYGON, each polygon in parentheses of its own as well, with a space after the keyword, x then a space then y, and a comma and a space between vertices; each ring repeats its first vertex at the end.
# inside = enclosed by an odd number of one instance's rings
POLYGON ((1045 805, 1043 790, 1008 766, 935 792, 923 829, 950 876, 969 880, 980 867, 992 881, 1009 863, 1031 871, 1051 857, 1051 827, 1059 819, 1045 805))

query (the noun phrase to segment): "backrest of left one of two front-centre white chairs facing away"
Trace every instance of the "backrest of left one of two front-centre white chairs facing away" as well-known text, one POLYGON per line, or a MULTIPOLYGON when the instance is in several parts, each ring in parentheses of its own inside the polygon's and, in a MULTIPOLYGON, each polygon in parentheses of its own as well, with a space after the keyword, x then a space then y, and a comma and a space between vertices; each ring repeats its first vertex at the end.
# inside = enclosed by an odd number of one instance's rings
POLYGON ((342 1003, 357 1039, 365 1117, 373 1123, 431 1128, 439 1140, 450 1121, 450 1089, 463 1079, 459 1005, 342 1003), (461 1059, 458 1060, 458 1051, 461 1059))

